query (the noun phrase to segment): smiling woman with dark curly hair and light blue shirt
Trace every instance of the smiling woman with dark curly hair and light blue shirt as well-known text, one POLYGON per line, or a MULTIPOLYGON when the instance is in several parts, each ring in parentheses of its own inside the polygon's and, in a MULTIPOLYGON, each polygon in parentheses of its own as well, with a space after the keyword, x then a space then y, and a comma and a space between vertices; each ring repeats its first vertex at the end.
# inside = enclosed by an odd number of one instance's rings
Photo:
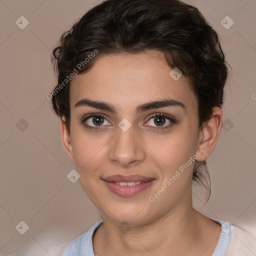
POLYGON ((62 143, 102 218, 62 256, 227 255, 230 224, 191 199, 192 180, 207 183, 228 73, 201 13, 106 0, 61 36, 53 60, 62 143))

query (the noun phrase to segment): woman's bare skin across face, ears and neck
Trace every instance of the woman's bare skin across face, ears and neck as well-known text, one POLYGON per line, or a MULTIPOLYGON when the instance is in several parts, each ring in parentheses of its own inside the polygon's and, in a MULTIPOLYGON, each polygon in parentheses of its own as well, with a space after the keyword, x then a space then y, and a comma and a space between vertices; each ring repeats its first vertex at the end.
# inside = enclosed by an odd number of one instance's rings
MULTIPOLYGON (((192 208, 193 164, 150 202, 153 195, 189 157, 208 157, 215 147, 222 124, 221 109, 215 107, 208 122, 198 126, 197 99, 188 80, 170 77, 171 68, 161 52, 100 56, 86 73, 75 75, 70 85, 70 133, 61 120, 64 149, 80 174, 79 182, 101 213, 101 224, 93 235, 93 250, 108 255, 211 255, 221 231, 220 225, 192 208), (113 105, 116 113, 86 105, 87 98, 113 105), (174 99, 181 106, 165 106, 136 112, 149 101, 174 99), (86 129, 81 119, 100 113, 106 119, 97 130, 86 129), (156 113, 165 119, 166 129, 155 129, 156 113), (126 118, 126 131, 118 123, 126 118), (169 125, 171 124, 171 125, 169 125), (154 177, 142 192, 123 197, 111 192, 102 178, 113 174, 154 177), (130 228, 123 233, 120 224, 130 228)), ((92 117, 85 123, 94 125, 92 117)))

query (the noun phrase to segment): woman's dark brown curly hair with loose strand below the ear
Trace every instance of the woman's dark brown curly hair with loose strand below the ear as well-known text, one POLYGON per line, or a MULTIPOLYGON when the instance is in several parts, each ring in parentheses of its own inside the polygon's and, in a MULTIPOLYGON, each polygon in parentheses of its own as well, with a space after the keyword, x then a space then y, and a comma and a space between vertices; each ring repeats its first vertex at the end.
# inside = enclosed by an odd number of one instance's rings
MULTIPOLYGON (((78 63, 83 65, 76 72, 84 73, 100 55, 154 49, 164 53, 171 68, 178 67, 187 76, 198 101, 200 127, 213 107, 222 106, 228 69, 218 35, 196 7, 179 0, 105 0, 64 32, 58 45, 52 52, 58 85, 78 69, 78 63), (96 56, 85 63, 95 50, 96 56)), ((69 83, 58 90, 56 85, 51 99, 70 132, 69 83)), ((193 180, 205 185, 201 169, 209 177, 206 162, 196 161, 193 180)))

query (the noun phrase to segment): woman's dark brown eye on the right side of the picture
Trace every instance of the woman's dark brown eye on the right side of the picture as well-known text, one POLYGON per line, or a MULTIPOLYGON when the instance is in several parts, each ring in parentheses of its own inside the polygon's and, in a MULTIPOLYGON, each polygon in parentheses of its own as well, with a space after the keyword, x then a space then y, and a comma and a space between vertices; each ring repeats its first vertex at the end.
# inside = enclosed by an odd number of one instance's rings
POLYGON ((167 114, 157 113, 150 117, 145 123, 146 126, 153 126, 156 129, 166 129, 175 123, 175 119, 167 114))

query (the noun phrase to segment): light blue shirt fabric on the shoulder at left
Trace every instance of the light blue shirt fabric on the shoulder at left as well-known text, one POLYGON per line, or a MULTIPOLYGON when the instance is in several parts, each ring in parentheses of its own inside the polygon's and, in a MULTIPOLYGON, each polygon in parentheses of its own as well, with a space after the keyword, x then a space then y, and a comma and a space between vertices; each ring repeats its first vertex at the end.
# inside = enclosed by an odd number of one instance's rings
POLYGON ((102 223, 102 220, 95 223, 87 232, 71 241, 61 256, 93 256, 92 235, 94 230, 102 223))

